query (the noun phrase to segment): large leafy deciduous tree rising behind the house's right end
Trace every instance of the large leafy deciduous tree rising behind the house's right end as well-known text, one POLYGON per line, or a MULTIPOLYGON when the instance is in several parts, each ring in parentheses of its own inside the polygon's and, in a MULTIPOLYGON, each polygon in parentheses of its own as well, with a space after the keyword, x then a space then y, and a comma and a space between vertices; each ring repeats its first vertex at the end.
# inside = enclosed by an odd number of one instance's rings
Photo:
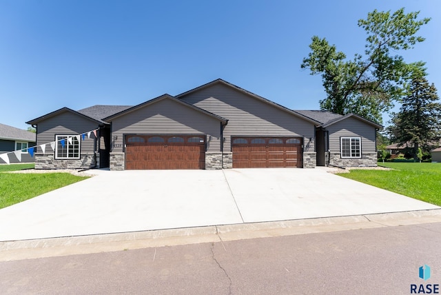
POLYGON ((405 63, 400 55, 394 55, 424 41, 416 33, 430 19, 417 19, 418 14, 406 14, 404 8, 392 14, 369 12, 367 19, 358 21, 367 32, 365 52, 351 60, 325 38, 312 37, 311 52, 301 68, 322 76, 327 97, 320 101, 320 108, 337 114, 352 112, 381 123, 382 112, 402 96, 409 74, 424 65, 405 63))

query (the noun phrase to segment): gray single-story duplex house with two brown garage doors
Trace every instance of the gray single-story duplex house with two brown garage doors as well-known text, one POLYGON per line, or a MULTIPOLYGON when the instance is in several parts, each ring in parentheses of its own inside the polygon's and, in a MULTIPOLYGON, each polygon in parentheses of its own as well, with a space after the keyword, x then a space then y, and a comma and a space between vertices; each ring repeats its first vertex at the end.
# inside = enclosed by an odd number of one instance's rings
POLYGON ((27 123, 37 128, 37 169, 375 166, 381 128, 355 114, 289 110, 222 79, 134 106, 61 108, 27 123), (72 139, 89 130, 97 136, 72 139), (51 141, 52 152, 39 148, 51 141))

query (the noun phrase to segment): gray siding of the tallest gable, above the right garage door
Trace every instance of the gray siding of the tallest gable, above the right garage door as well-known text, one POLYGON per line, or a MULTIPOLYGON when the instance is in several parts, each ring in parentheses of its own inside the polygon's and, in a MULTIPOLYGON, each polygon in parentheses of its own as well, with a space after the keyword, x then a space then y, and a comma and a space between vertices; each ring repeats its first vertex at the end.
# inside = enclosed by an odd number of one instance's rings
POLYGON ((231 150, 232 136, 294 136, 304 138, 305 152, 314 152, 314 141, 309 142, 314 124, 227 85, 211 85, 181 99, 229 120, 224 151, 231 150))

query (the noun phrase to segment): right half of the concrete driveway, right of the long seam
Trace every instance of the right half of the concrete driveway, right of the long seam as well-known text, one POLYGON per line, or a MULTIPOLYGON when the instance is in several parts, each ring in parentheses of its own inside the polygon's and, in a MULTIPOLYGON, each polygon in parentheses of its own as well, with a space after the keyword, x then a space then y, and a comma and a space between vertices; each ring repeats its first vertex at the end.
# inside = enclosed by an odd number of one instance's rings
POLYGON ((439 208, 321 167, 224 173, 245 223, 439 208))

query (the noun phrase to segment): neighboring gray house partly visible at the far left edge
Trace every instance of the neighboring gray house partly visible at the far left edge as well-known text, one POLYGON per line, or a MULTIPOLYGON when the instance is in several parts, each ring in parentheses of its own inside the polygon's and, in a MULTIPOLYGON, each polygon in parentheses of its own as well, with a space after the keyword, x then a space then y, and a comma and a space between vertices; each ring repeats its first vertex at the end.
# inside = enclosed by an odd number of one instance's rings
MULTIPOLYGON (((21 161, 12 153, 8 155, 10 163, 32 163, 34 158, 27 149, 35 145, 35 138, 36 134, 33 132, 0 124, 0 154, 21 150, 21 161)), ((0 164, 4 163, 6 162, 0 159, 0 164)))

